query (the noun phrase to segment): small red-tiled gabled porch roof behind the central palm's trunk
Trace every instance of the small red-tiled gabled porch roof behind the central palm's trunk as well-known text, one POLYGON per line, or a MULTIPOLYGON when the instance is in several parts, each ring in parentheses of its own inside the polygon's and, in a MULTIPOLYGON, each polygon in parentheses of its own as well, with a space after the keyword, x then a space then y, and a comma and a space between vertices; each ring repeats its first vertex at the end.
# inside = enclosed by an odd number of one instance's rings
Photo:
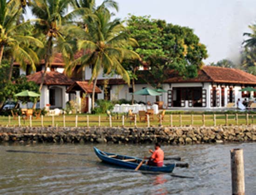
MULTIPOLYGON (((67 93, 83 90, 85 93, 93 93, 93 83, 89 84, 86 81, 76 81, 67 88, 67 93)), ((95 93, 101 93, 101 89, 96 86, 95 93)))

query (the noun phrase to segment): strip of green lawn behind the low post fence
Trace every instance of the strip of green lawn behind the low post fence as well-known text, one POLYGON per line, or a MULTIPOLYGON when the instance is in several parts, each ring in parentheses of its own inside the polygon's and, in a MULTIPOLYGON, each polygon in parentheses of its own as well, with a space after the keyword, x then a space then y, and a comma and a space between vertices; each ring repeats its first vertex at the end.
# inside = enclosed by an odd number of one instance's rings
MULTIPOLYGON (((87 115, 87 114, 78 114, 77 126, 99 126, 99 115, 87 115), (89 123, 87 123, 87 117, 89 123)), ((247 124, 246 114, 238 114, 238 124, 247 124)), ((110 126, 110 121, 106 114, 100 115, 101 126, 110 126)), ((227 125, 236 125, 236 115, 229 114, 227 120, 227 125)), ((256 114, 248 115, 248 124, 256 124, 256 114)), ((213 114, 205 114, 204 115, 204 123, 205 126, 213 126, 214 125, 214 115, 213 114)), ((160 122, 158 121, 156 115, 154 116, 154 120, 150 121, 150 126, 159 126, 160 122)), ((216 114, 216 125, 225 125, 226 124, 226 115, 224 114, 216 114)), ((13 119, 13 117, 5 117, 0 116, 0 125, 1 126, 18 126, 18 119, 13 119), (10 119, 10 120, 9 120, 10 119)), ((21 126, 30 126, 29 120, 20 120, 21 126)), ((44 116, 43 117, 43 126, 63 126, 63 115, 60 116, 44 116), (53 122, 54 119, 54 122, 53 122)), ((66 115, 65 116, 65 125, 66 126, 75 126, 75 115, 66 115)), ((136 125, 138 127, 148 126, 148 123, 145 121, 139 121, 139 117, 137 116, 136 125)), ((164 121, 162 121, 163 126, 171 125, 171 115, 165 115, 164 121)), ((173 114, 172 115, 172 125, 173 126, 190 126, 192 125, 192 115, 191 114, 173 114)), ((203 115, 202 114, 194 114, 193 115, 193 126, 202 126, 203 125, 203 115)), ((32 119, 32 126, 41 126, 41 118, 35 120, 32 119)), ((122 126, 122 116, 119 115, 119 118, 112 118, 112 126, 122 126)), ((125 117, 124 126, 135 126, 135 121, 130 121, 129 118, 125 117)))

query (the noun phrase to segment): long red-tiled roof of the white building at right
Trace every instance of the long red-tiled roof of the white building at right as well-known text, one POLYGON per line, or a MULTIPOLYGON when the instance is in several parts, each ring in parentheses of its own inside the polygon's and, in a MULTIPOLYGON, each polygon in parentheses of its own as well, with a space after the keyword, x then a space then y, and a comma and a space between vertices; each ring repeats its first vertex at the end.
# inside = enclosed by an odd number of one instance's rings
POLYGON ((169 79, 165 83, 178 82, 218 82, 218 83, 241 83, 256 84, 256 76, 240 69, 222 68, 216 66, 204 66, 198 70, 198 76, 191 79, 183 79, 175 71, 169 71, 169 79))

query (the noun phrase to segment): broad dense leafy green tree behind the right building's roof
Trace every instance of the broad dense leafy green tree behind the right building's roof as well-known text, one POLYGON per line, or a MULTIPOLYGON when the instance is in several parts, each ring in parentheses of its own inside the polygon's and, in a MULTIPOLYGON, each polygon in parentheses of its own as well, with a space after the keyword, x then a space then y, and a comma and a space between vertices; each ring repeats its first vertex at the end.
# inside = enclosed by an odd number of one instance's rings
POLYGON ((128 18, 127 25, 128 34, 139 44, 132 49, 142 58, 134 67, 146 65, 148 71, 141 76, 154 87, 161 87, 168 78, 167 70, 171 69, 183 77, 195 77, 203 65, 202 60, 208 57, 205 45, 188 27, 134 15, 128 18))

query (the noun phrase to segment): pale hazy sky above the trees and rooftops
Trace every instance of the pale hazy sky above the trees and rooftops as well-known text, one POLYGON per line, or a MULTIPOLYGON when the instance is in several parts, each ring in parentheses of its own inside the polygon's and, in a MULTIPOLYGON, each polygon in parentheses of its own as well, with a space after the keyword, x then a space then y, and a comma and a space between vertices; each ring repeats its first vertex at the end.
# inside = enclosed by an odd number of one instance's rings
MULTIPOLYGON (((96 0, 97 4, 103 0, 96 0)), ((256 22, 256 0, 116 0, 121 19, 128 13, 151 15, 168 23, 189 26, 207 46, 206 63, 239 59, 243 32, 256 22)))

